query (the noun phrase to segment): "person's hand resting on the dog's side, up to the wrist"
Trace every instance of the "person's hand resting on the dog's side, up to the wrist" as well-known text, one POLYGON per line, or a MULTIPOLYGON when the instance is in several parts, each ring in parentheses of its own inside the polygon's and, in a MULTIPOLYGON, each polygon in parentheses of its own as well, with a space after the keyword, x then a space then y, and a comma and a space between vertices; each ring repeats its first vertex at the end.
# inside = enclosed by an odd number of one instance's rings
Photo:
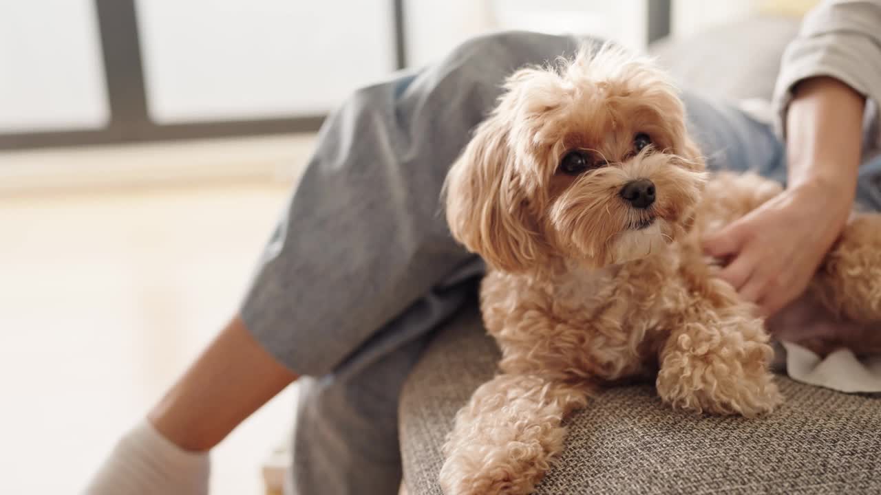
POLYGON ((770 316, 807 288, 844 228, 852 202, 852 194, 805 183, 714 233, 704 240, 704 250, 729 260, 719 277, 770 316))

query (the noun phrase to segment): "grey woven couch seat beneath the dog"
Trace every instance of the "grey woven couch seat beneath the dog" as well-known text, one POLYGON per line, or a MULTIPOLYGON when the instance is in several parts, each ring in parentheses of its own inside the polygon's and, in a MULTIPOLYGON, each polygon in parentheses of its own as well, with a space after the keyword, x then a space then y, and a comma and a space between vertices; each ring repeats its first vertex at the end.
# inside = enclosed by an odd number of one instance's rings
MULTIPOLYGON (((498 358, 474 307, 426 350, 401 399, 409 495, 441 494, 444 437, 498 358)), ((881 399, 778 381, 786 403, 752 420, 670 410, 651 384, 610 388, 571 418, 537 493, 881 493, 881 399)))

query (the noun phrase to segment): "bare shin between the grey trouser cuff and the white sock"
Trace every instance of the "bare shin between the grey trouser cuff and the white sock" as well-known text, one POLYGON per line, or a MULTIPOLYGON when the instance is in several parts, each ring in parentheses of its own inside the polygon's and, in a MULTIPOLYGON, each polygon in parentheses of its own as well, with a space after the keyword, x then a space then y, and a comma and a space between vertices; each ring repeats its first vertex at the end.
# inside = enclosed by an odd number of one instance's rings
POLYGON ((236 316, 147 418, 177 446, 209 450, 296 379, 236 316))

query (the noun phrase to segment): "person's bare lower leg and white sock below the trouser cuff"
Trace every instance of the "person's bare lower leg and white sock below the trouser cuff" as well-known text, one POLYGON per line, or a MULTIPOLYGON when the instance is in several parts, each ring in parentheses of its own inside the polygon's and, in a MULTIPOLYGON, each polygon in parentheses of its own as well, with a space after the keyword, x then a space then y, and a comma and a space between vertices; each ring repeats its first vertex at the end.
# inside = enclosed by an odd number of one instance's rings
POLYGON ((206 495, 208 450, 296 378, 233 318, 119 440, 85 494, 206 495))

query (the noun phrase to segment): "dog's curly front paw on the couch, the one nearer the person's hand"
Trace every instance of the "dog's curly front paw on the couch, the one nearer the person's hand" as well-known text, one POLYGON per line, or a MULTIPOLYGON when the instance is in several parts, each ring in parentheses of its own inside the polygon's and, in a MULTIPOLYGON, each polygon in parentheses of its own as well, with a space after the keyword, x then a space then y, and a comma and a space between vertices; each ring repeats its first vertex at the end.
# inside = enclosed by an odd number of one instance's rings
POLYGON ((782 402, 768 370, 774 351, 764 334, 748 338, 756 335, 755 329, 699 328, 671 338, 658 372, 658 395, 673 407, 697 412, 755 417, 774 410, 782 402))

